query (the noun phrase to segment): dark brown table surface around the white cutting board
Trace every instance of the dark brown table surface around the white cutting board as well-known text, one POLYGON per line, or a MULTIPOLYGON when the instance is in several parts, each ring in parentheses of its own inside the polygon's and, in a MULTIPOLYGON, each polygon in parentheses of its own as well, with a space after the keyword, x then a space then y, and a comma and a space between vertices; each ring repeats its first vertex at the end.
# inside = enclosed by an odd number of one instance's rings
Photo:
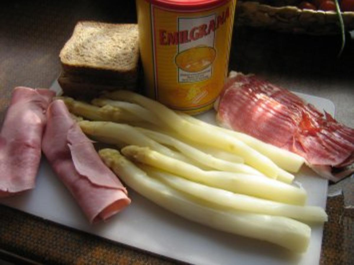
MULTIPOLYGON (((61 72, 60 49, 78 20, 136 23, 135 1, 6 1, 0 4, 0 124, 16 86, 50 87, 61 72)), ((236 21, 237 26, 237 21, 236 21)), ((253 72, 291 90, 330 99, 336 118, 354 127, 354 42, 235 27, 230 69, 253 72)), ((341 184, 342 183, 342 184, 341 184)), ((354 264, 354 184, 330 190, 321 264, 354 264), (347 195, 346 195, 347 194, 347 195)), ((344 184, 343 184, 344 183, 344 184)), ((176 261, 30 216, 0 202, 1 259, 18 264, 168 264, 176 261)))

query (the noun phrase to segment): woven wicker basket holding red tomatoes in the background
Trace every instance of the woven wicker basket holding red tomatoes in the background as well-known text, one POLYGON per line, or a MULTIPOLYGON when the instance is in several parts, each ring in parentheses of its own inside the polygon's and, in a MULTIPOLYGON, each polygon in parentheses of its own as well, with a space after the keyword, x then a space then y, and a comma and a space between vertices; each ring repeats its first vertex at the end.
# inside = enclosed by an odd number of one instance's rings
MULTIPOLYGON (((342 12, 345 30, 354 29, 354 12, 342 12)), ((238 1, 236 25, 312 35, 340 34, 338 15, 333 11, 301 10, 296 6, 270 6, 238 1)))

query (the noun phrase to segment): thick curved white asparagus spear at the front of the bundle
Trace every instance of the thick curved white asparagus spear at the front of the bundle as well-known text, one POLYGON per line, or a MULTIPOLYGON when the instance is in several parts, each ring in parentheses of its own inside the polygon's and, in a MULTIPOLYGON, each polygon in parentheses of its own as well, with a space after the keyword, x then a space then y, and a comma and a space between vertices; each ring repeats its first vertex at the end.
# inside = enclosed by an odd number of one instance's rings
POLYGON ((221 231, 272 242, 293 252, 307 250, 311 228, 306 224, 286 217, 207 207, 148 177, 116 150, 102 149, 99 155, 126 185, 166 210, 221 231))

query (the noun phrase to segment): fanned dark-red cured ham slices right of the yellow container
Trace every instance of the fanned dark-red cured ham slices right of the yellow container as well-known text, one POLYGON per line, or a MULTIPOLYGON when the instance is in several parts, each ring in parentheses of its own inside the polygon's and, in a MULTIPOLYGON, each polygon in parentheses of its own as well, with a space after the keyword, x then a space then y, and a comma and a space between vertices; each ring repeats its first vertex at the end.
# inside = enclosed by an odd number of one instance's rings
POLYGON ((354 129, 289 90, 232 73, 216 110, 222 126, 297 153, 332 181, 354 172, 354 129))

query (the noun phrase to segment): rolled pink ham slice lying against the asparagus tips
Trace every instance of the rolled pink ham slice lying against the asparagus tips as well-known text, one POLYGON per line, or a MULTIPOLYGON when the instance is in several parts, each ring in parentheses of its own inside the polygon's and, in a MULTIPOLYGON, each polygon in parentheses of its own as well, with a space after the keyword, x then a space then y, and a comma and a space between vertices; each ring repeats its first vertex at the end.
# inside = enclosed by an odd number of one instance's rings
POLYGON ((99 158, 62 100, 47 111, 42 150, 90 223, 106 220, 130 204, 127 190, 99 158))

